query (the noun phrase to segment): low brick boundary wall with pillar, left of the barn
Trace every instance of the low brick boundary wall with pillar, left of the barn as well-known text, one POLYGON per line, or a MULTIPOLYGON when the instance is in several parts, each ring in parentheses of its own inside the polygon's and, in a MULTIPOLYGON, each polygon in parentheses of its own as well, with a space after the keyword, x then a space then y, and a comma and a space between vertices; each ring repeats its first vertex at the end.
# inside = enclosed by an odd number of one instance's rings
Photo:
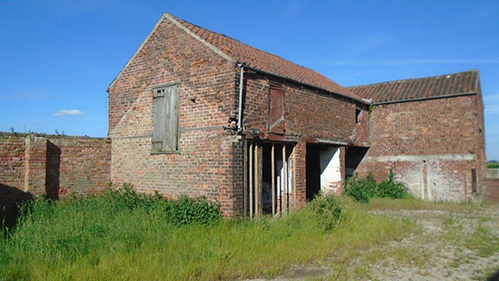
POLYGON ((95 194, 111 176, 102 138, 0 133, 0 203, 47 194, 95 194))

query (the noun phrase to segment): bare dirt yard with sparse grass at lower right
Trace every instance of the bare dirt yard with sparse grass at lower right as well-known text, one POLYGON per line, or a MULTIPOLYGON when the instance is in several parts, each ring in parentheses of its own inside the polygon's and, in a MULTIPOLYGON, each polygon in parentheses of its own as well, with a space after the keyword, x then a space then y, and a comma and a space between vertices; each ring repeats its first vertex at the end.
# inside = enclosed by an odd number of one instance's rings
POLYGON ((295 266, 274 280, 499 280, 499 205, 444 207, 370 210, 414 220, 418 231, 354 258, 295 266))

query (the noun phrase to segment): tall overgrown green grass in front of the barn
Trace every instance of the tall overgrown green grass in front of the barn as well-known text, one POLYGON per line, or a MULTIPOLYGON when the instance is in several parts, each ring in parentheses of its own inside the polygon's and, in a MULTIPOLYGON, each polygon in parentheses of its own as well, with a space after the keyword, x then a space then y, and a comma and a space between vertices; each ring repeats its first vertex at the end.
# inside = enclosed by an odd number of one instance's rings
POLYGON ((213 210, 205 201, 185 204, 131 191, 37 200, 1 239, 0 279, 270 277, 292 264, 352 256, 416 231, 413 221, 368 214, 334 197, 319 197, 277 220, 221 221, 216 212, 213 219, 206 216, 213 210), (191 216, 196 219, 179 219, 191 216))

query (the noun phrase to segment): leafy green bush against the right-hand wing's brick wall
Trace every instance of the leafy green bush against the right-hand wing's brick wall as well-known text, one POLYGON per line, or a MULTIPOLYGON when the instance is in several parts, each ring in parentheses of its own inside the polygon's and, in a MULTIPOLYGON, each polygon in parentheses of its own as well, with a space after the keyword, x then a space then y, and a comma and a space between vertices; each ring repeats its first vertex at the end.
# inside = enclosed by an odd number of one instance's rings
POLYGON ((380 183, 376 182, 372 174, 369 174, 365 179, 355 174, 347 180, 345 194, 362 203, 367 203, 374 197, 392 199, 411 197, 407 186, 397 181, 393 172, 390 172, 388 178, 380 183))

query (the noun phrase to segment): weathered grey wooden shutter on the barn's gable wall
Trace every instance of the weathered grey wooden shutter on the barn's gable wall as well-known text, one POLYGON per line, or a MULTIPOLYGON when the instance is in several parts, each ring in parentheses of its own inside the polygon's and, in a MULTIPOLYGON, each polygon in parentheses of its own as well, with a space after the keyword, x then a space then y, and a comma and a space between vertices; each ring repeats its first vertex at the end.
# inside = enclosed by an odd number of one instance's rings
POLYGON ((154 89, 154 152, 178 150, 178 90, 179 85, 154 89))

